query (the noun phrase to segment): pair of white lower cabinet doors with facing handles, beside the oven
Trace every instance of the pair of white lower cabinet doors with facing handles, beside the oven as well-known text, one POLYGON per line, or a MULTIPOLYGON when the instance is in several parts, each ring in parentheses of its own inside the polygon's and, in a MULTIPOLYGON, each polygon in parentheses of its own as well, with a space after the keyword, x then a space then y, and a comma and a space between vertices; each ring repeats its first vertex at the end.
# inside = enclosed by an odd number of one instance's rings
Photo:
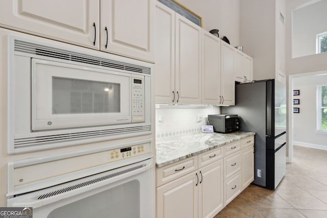
POLYGON ((214 217, 224 207, 222 178, 220 159, 159 186, 157 218, 214 217))

